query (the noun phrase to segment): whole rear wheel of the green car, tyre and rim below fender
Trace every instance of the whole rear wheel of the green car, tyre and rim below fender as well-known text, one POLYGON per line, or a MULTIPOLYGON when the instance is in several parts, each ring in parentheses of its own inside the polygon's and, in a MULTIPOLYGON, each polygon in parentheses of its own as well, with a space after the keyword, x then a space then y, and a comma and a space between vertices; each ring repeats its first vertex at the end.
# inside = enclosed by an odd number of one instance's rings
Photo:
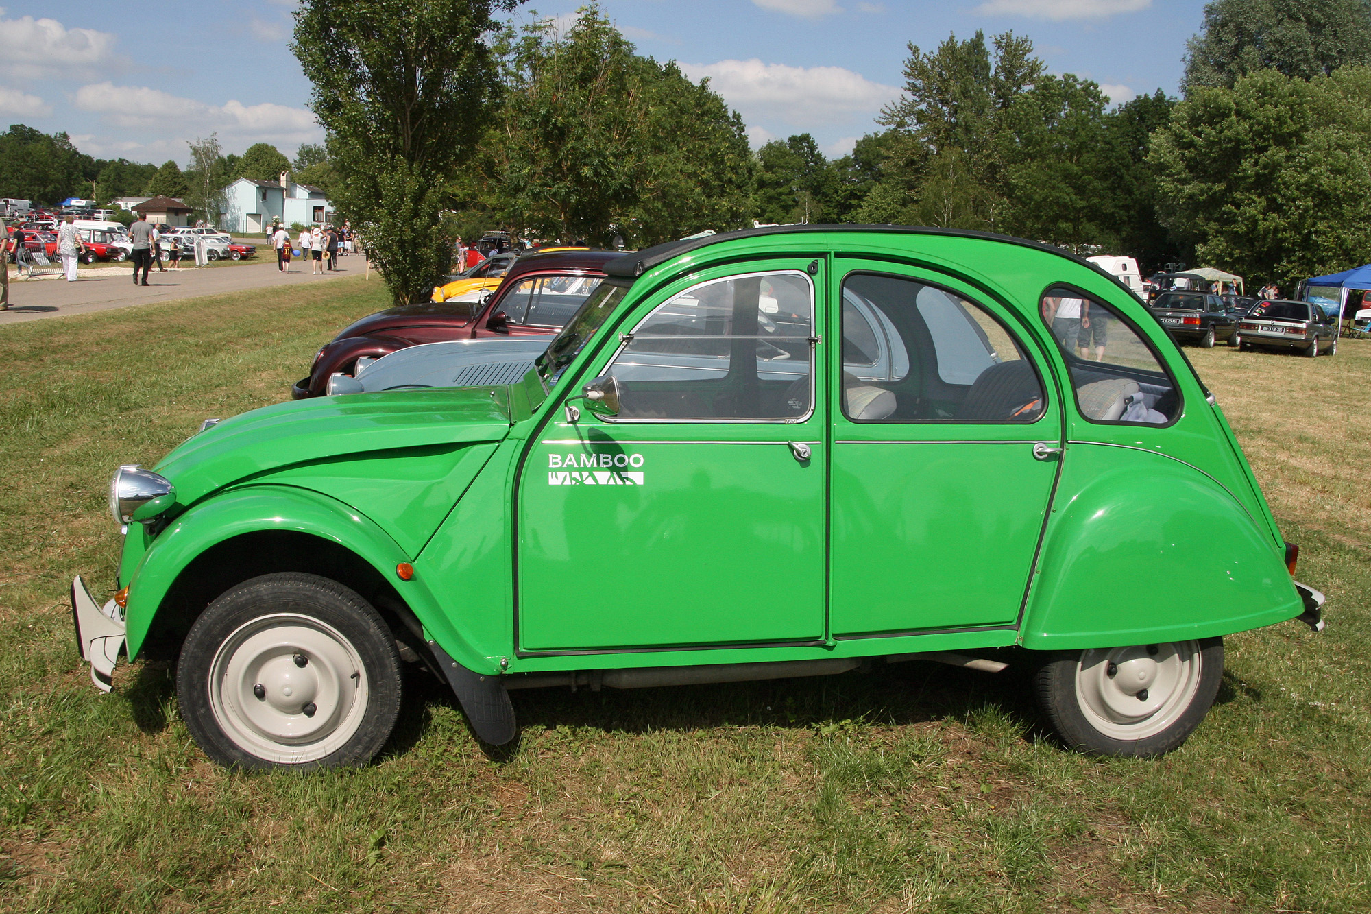
POLYGON ((1163 755, 1190 736, 1219 692, 1223 638, 1060 651, 1034 677, 1043 716, 1090 755, 1163 755))

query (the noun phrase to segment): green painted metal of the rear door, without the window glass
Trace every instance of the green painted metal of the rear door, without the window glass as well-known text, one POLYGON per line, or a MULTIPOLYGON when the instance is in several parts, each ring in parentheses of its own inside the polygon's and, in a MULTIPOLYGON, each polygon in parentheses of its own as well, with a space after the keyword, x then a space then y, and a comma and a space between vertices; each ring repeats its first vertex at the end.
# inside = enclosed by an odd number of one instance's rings
MULTIPOLYGON (((851 421, 835 391, 832 416, 831 627, 836 638, 1012 626, 1043 527, 1058 461, 1034 445, 1061 445, 1060 398, 1023 328, 984 295, 949 277, 888 263, 839 261, 854 272, 898 276, 960 292, 997 317, 1039 366, 1043 412, 1032 423, 941 419, 951 401, 920 387, 930 353, 909 353, 903 383, 886 383, 901 403, 924 401, 880 421, 851 421), (931 402, 930 402, 931 401, 931 402)), ((851 312, 849 310, 849 317, 851 312)), ((829 329, 836 335, 838 328, 829 329)), ((994 336, 994 332, 991 332, 994 336)), ((1001 335, 1001 349, 1005 338, 1001 335)), ((913 349, 913 347, 912 347, 913 349)), ((836 347, 829 358, 836 358, 836 347)), ((849 351, 849 377, 860 373, 849 351)), ((897 372, 898 373, 898 372, 897 372)), ((956 379, 954 379, 956 380, 956 379)))

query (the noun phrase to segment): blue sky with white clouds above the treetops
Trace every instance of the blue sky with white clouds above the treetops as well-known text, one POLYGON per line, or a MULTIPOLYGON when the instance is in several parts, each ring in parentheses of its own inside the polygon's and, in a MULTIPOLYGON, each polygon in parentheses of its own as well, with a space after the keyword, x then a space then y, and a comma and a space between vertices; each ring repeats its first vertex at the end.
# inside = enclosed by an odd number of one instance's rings
MULTIPOLYGON (((347 3, 348 0, 337 0, 347 3)), ((515 14, 562 21, 580 0, 515 14)), ((1202 0, 605 0, 658 60, 675 59, 735 107, 754 144, 809 132, 829 155, 876 129, 908 43, 1013 30, 1052 73, 1101 84, 1116 103, 1176 92, 1202 0)), ((185 165, 217 132, 226 152, 273 143, 293 155, 322 130, 288 48, 295 0, 0 7, 0 124, 66 130, 90 155, 185 165)))

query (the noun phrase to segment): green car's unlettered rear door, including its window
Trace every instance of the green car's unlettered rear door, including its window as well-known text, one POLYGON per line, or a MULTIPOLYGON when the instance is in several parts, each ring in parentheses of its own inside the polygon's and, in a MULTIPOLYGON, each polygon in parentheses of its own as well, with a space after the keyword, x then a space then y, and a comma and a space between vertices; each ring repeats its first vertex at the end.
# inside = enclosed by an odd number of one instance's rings
MULTIPOLYGON (((832 635, 1013 626, 1061 453, 1041 351, 1006 309, 949 277, 838 263, 832 635), (895 331, 891 371, 868 351, 872 312, 895 331)), ((1063 321, 1072 346, 1086 344, 1082 323, 1063 321)))

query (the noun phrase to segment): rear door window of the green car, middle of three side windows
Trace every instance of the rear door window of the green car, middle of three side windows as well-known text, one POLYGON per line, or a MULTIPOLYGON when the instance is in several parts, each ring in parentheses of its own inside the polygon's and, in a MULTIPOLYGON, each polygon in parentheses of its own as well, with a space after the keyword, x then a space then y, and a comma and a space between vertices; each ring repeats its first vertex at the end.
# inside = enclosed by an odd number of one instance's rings
POLYGON ((917 280, 843 280, 843 414, 853 421, 1031 423, 1038 372, 975 302, 917 280))

